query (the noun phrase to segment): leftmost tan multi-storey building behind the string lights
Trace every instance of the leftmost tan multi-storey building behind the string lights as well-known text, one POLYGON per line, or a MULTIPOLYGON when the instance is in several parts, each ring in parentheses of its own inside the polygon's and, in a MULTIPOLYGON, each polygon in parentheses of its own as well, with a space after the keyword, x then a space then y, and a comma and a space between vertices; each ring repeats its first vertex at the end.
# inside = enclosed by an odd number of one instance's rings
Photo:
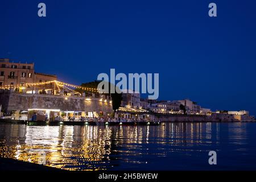
POLYGON ((10 59, 0 59, 0 86, 52 80, 57 80, 56 75, 36 73, 34 63, 15 63, 10 59))

